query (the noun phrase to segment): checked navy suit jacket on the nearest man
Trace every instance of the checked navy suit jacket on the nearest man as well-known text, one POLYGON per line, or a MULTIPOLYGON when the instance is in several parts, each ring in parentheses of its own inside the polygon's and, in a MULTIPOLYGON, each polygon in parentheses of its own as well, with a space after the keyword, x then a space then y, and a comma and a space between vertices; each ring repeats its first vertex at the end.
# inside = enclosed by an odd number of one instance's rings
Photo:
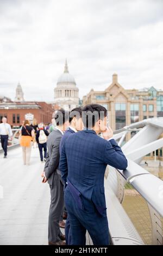
POLYGON ((106 209, 104 174, 107 164, 124 170, 127 159, 114 139, 106 141, 93 130, 73 133, 62 145, 59 170, 62 179, 70 184, 79 208, 82 194, 103 215, 106 209))

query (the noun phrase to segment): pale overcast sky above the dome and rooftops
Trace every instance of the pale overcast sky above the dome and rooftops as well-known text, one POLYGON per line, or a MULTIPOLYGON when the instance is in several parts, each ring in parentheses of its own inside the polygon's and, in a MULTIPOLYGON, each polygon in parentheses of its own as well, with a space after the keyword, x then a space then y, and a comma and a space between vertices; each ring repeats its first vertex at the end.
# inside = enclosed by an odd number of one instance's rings
POLYGON ((65 58, 79 96, 163 89, 162 0, 0 0, 0 95, 53 101, 65 58))

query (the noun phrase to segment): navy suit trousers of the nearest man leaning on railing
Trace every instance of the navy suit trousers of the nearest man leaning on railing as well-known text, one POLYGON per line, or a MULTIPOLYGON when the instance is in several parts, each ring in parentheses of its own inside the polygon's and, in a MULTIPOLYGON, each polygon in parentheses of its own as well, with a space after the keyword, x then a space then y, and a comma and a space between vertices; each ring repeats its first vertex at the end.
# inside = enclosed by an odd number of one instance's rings
MULTIPOLYGON (((82 197, 82 196, 81 196, 82 197)), ((83 210, 80 209, 68 186, 65 189, 65 204, 71 227, 71 245, 85 245, 86 230, 93 245, 109 245, 109 227, 106 211, 99 215, 95 205, 82 197, 83 210)))

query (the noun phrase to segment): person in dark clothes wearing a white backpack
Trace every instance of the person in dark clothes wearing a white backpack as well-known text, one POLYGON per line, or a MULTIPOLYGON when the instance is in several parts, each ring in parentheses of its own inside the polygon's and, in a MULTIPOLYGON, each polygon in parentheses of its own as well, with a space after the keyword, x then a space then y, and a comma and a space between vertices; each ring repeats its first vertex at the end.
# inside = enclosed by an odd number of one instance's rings
POLYGON ((47 136, 49 135, 49 133, 47 130, 44 129, 43 123, 40 123, 38 126, 39 126, 39 131, 36 131, 36 142, 39 147, 41 162, 43 162, 42 149, 44 150, 44 161, 46 161, 46 155, 47 155, 46 142, 47 142, 47 136))

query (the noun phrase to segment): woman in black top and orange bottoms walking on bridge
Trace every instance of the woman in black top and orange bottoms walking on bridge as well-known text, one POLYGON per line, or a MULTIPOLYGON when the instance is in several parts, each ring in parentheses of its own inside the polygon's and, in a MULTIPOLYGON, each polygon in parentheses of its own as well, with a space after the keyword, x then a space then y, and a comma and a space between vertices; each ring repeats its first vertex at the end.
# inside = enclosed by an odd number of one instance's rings
POLYGON ((35 132, 33 127, 30 126, 29 120, 24 121, 24 125, 22 130, 20 131, 21 134, 21 147, 23 150, 23 162, 29 166, 30 162, 30 153, 33 144, 33 139, 35 139, 35 132))

